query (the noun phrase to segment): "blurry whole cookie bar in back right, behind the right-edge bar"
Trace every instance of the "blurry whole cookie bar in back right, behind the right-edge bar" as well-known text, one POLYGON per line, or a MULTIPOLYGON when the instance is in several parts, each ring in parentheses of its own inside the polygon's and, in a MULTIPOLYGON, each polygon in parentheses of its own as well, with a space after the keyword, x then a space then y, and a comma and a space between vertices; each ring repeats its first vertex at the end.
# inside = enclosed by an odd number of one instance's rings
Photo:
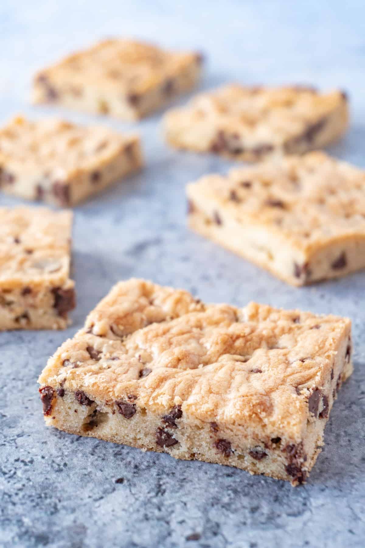
POLYGON ((347 118, 344 92, 227 85, 167 112, 165 134, 178 149, 255 162, 320 149, 345 132, 347 118))

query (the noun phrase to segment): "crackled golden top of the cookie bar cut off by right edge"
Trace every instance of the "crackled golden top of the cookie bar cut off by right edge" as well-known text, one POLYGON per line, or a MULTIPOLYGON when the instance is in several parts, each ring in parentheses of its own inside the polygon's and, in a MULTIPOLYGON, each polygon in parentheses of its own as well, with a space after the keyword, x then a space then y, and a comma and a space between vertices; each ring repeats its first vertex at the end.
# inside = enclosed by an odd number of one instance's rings
POLYGON ((365 172, 323 152, 207 175, 187 193, 199 208, 265 225, 305 251, 365 237, 365 172))

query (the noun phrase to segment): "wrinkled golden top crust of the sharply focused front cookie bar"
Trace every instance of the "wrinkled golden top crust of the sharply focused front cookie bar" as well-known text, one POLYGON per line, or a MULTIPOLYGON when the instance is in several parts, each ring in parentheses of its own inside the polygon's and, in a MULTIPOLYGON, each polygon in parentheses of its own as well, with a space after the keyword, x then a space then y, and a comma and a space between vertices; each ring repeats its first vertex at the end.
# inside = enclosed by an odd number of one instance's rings
POLYGON ((350 320, 249 304, 204 305, 183 291, 120 282, 40 375, 99 403, 128 394, 164 413, 303 434, 350 320), (296 389, 300 389, 298 394, 296 389))

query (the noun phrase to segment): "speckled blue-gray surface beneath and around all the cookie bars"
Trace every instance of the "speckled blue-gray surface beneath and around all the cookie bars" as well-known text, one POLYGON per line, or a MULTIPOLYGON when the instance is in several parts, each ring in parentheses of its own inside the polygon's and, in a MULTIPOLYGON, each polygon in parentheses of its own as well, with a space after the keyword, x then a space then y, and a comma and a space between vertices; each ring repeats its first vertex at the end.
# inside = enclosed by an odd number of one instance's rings
MULTIPOLYGON (((2 0, 1 122, 19 111, 53 112, 27 103, 30 76, 45 62, 100 36, 138 36, 204 50, 205 87, 234 78, 348 89, 352 127, 331 151, 365 167, 363 2, 130 4, 2 0)), ((138 124, 146 170, 76 209, 73 327, 66 333, 0 334, 0 544, 364 546, 365 273, 294 289, 188 232, 184 185, 212 170, 224 172, 229 163, 167 149, 159 121, 156 115, 138 124), (130 276, 184 287, 208 301, 244 305, 255 299, 353 319, 355 373, 340 391, 326 447, 304 487, 46 429, 37 393, 40 370, 109 287, 130 276)), ((1 197, 0 203, 18 202, 1 197)))

